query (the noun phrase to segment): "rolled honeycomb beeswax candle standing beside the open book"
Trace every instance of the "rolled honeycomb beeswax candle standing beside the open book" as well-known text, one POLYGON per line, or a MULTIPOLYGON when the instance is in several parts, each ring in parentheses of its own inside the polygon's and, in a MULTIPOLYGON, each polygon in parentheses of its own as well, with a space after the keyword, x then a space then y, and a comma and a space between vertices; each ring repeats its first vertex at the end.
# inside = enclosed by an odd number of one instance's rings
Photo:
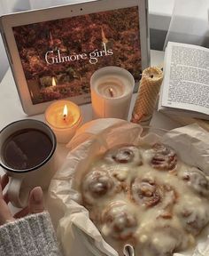
POLYGON ((162 80, 163 72, 161 69, 150 67, 143 70, 131 122, 137 124, 143 121, 149 122, 158 99, 162 80))

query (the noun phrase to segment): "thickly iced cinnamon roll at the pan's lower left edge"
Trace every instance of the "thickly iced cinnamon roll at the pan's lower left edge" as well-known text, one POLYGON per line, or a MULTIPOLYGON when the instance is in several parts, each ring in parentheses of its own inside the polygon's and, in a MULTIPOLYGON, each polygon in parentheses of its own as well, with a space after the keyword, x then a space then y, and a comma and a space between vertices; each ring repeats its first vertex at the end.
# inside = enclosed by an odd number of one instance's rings
POLYGON ((134 237, 137 228, 135 211, 123 201, 108 204, 102 214, 104 236, 111 236, 116 240, 128 240, 134 237))

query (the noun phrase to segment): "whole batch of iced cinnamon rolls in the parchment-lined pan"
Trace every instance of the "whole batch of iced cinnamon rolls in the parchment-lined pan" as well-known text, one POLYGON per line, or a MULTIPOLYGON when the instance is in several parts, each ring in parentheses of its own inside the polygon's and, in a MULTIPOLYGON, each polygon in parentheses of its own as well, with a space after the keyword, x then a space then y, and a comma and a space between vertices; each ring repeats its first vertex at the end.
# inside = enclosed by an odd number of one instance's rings
POLYGON ((111 147, 100 141, 96 156, 85 167, 80 164, 71 183, 77 203, 118 255, 127 244, 135 256, 190 251, 209 223, 208 177, 185 164, 157 134, 153 140, 148 135, 147 140, 133 136, 126 141, 123 136, 117 143, 107 140, 111 147))

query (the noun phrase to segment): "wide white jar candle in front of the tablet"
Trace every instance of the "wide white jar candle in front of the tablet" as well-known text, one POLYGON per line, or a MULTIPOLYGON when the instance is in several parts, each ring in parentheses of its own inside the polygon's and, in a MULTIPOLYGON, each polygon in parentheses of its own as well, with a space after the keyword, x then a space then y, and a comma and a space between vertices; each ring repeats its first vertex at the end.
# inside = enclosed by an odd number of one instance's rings
POLYGON ((119 67, 98 69, 90 79, 93 118, 128 119, 135 79, 119 67))

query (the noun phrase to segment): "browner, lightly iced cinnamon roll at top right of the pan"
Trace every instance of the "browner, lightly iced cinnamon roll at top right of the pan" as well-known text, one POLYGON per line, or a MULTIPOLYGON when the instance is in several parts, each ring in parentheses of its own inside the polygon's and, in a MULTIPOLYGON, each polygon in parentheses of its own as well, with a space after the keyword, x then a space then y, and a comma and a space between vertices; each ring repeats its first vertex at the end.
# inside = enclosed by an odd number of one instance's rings
POLYGON ((177 156, 174 149, 163 144, 154 144, 151 149, 144 152, 149 164, 160 171, 174 170, 177 164, 177 156))

